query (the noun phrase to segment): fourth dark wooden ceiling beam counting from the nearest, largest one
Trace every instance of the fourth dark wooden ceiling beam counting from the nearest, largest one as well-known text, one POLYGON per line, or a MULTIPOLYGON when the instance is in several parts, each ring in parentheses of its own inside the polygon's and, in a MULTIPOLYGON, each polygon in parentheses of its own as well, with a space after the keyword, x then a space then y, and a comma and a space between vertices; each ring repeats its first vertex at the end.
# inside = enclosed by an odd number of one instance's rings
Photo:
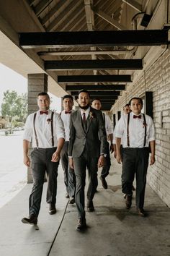
POLYGON ((125 90, 125 85, 66 85, 66 90, 125 90))

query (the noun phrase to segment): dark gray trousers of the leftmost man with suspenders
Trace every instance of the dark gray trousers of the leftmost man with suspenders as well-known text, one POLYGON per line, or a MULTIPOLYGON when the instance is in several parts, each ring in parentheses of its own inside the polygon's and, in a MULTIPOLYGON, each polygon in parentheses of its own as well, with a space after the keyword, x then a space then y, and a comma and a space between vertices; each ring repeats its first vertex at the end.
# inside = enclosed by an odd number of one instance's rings
POLYGON ((42 189, 45 171, 48 176, 48 189, 46 200, 55 204, 57 195, 57 176, 59 162, 51 162, 56 148, 34 148, 31 153, 31 167, 33 176, 33 187, 29 198, 30 216, 38 216, 40 211, 42 189))

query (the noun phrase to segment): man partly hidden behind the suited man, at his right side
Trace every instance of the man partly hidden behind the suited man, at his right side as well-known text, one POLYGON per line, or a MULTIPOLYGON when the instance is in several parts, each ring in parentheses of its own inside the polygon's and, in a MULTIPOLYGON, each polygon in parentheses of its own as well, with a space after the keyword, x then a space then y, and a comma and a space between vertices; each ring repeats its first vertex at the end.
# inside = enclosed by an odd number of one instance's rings
MULTIPOLYGON (((97 110, 101 110, 102 103, 99 100, 99 98, 95 98, 91 102, 91 107, 95 108, 97 110)), ((107 114, 104 114, 104 113, 102 113, 102 114, 103 114, 105 129, 106 129, 106 132, 107 132, 107 138, 109 138, 110 146, 109 146, 109 142, 107 141, 106 163, 104 164, 104 166, 102 168, 100 179, 102 181, 102 186, 104 187, 104 189, 107 189, 106 177, 107 177, 107 175, 109 175, 109 168, 111 166, 109 151, 111 151, 111 153, 113 153, 113 151, 114 151, 114 146, 113 146, 113 127, 112 127, 112 121, 110 120, 109 116, 107 114)))

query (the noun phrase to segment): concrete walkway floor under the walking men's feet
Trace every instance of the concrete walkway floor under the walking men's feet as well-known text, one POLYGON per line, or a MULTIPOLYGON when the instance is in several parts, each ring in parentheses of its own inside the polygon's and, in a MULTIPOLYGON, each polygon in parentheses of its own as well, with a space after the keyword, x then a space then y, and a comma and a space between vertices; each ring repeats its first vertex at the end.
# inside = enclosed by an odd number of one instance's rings
POLYGON ((109 187, 103 189, 99 180, 94 197, 95 211, 86 213, 88 229, 84 232, 75 229, 76 205, 69 205, 65 198, 61 167, 58 175, 58 212, 54 216, 48 214, 45 184, 38 219, 39 231, 21 222, 27 216, 32 187, 27 184, 0 209, 0 255, 170 256, 170 209, 147 187, 145 209, 148 217, 142 218, 135 213, 135 195, 132 208, 126 210, 120 179, 121 166, 113 161, 107 178, 109 187))

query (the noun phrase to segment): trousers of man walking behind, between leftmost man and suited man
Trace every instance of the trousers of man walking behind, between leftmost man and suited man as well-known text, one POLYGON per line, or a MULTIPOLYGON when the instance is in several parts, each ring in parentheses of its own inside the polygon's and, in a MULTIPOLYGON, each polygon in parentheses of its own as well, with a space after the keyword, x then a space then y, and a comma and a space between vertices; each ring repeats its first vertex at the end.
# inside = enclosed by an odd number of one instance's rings
POLYGON ((64 171, 64 183, 66 185, 66 191, 70 197, 74 197, 76 190, 76 176, 73 169, 71 169, 69 166, 68 143, 68 141, 64 142, 61 150, 61 164, 64 171))

